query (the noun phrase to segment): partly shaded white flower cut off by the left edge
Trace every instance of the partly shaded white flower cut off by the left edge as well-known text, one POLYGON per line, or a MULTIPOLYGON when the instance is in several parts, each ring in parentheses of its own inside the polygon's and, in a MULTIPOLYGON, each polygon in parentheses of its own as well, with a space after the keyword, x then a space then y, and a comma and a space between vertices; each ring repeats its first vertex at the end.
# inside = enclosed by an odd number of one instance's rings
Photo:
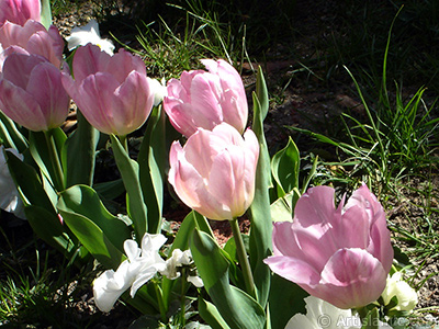
MULTIPOLYGON (((7 150, 11 151, 20 160, 23 160, 23 155, 20 155, 15 149, 7 148, 7 150)), ((3 146, 0 146, 0 208, 14 214, 19 218, 26 218, 19 191, 15 188, 7 160, 4 159, 3 146)))

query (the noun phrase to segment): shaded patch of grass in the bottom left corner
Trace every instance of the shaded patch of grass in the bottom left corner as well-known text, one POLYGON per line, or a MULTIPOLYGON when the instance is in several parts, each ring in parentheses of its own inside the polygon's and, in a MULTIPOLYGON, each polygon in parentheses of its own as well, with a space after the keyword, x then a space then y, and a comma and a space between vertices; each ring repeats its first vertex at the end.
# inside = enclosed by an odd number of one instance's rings
POLYGON ((87 309, 83 299, 90 298, 92 264, 69 266, 29 230, 0 228, 0 326, 93 328, 102 322, 102 316, 87 309))

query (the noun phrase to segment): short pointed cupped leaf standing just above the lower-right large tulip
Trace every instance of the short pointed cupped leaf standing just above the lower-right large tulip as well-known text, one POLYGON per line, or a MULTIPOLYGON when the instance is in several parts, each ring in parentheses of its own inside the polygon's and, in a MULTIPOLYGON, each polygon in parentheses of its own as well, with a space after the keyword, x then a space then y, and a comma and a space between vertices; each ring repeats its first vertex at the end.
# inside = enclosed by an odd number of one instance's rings
MULTIPOLYGON (((278 197, 299 189, 301 156, 297 146, 290 137, 285 148, 278 151, 271 160, 271 173, 277 183, 278 197)), ((291 204, 290 204, 291 207, 291 204)))

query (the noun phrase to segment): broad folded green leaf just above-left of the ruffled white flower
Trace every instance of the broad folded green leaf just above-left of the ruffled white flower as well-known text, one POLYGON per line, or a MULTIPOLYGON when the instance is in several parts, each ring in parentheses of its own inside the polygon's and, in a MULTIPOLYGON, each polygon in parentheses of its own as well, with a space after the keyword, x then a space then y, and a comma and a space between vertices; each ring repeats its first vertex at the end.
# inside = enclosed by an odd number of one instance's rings
MULTIPOLYGON (((77 232, 81 235, 82 238, 77 236, 78 239, 80 239, 86 248, 93 254, 95 251, 87 247, 90 246, 91 242, 83 241, 83 239, 90 240, 93 238, 91 236, 83 236, 82 231, 86 228, 78 227, 79 224, 75 220, 79 220, 82 223, 81 225, 87 226, 87 229, 90 229, 94 237, 102 234, 112 246, 121 251, 123 250, 123 242, 131 238, 130 228, 122 220, 106 211, 102 202, 99 200, 98 193, 90 186, 75 185, 61 192, 59 194, 57 207, 70 229, 75 235, 77 235, 77 232), (99 228, 99 231, 88 222, 94 224, 99 228)), ((102 241, 101 238, 100 242, 102 241)), ((103 247, 101 246, 100 248, 103 247)))

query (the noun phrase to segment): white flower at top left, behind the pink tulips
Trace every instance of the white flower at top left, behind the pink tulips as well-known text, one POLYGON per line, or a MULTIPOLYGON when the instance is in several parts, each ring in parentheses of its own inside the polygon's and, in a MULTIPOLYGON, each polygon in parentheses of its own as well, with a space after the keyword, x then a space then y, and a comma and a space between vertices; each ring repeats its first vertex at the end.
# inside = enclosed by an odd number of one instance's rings
POLYGON ((113 43, 108 38, 101 38, 99 25, 95 20, 90 20, 86 26, 74 27, 70 36, 66 37, 66 39, 69 50, 87 44, 93 44, 98 45, 103 52, 110 55, 114 54, 113 43))

